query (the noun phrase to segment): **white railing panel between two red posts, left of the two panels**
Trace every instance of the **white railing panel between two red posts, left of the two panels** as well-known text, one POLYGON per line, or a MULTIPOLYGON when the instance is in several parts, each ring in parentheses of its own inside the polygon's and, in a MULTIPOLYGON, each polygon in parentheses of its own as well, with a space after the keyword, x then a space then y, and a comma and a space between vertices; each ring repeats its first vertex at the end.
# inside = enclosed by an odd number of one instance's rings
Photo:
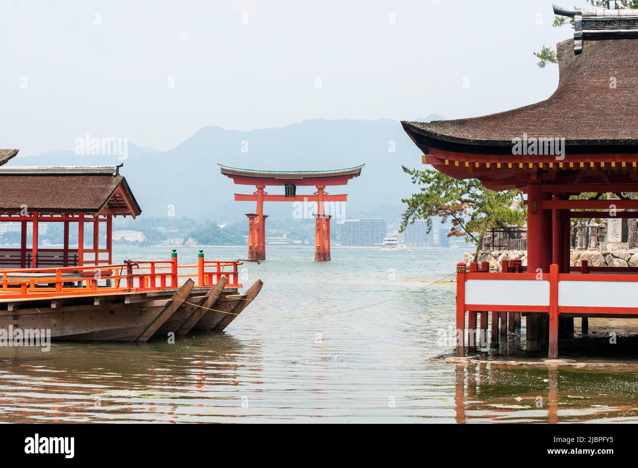
MULTIPOLYGON (((486 273, 486 276, 489 273, 486 273)), ((549 306, 546 280, 467 280, 466 304, 549 306)))

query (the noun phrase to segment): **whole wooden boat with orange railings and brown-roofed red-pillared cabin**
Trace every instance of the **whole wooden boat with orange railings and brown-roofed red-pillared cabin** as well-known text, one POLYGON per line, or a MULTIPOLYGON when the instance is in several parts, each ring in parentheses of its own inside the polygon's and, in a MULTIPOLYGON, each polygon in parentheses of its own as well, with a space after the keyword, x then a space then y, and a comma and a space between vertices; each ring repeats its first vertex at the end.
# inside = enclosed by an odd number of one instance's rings
MULTIPOLYGON (((0 165, 17 152, 0 150, 0 165)), ((142 213, 120 167, 0 168, 0 222, 19 224, 21 240, 17 248, 0 246, 5 335, 46 330, 54 340, 144 342, 223 331, 259 294, 261 280, 239 292, 241 260, 206 260, 202 250, 192 265, 178 264, 175 249, 170 259, 113 262, 112 219, 142 213), (62 248, 39 245, 40 223, 63 223, 62 248)))

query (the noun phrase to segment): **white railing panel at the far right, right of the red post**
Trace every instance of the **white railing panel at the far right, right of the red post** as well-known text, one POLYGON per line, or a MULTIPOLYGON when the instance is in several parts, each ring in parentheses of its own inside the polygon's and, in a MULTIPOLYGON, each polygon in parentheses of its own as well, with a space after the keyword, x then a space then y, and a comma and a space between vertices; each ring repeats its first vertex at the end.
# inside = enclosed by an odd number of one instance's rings
POLYGON ((558 305, 635 307, 638 283, 633 281, 560 281, 558 305))

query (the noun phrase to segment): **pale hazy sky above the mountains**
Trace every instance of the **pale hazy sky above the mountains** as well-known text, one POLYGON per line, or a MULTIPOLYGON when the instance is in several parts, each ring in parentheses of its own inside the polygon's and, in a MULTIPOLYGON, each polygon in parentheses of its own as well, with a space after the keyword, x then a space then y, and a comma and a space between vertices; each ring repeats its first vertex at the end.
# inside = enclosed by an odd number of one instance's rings
POLYGON ((0 147, 507 110, 556 87, 532 56, 572 36, 552 21, 551 0, 0 0, 0 147))

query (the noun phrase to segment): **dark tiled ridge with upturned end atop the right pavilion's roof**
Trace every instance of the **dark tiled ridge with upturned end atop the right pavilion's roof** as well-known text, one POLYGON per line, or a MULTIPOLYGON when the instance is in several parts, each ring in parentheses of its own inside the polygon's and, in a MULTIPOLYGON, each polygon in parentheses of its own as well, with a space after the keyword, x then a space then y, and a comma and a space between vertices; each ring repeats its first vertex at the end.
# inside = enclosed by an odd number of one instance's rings
POLYGON ((553 5, 554 15, 574 18, 574 52, 582 52, 585 39, 638 37, 638 10, 628 8, 569 10, 553 5))

